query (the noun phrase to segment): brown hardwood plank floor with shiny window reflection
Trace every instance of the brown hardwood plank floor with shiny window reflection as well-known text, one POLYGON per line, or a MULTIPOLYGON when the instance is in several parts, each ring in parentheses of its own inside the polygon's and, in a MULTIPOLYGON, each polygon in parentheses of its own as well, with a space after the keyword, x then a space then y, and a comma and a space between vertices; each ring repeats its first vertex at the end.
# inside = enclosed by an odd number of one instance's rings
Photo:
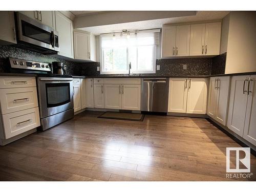
POLYGON ((83 112, 0 146, 0 180, 245 180, 226 178, 226 147, 241 146, 206 119, 146 115, 141 122, 97 118, 101 113, 83 112))

